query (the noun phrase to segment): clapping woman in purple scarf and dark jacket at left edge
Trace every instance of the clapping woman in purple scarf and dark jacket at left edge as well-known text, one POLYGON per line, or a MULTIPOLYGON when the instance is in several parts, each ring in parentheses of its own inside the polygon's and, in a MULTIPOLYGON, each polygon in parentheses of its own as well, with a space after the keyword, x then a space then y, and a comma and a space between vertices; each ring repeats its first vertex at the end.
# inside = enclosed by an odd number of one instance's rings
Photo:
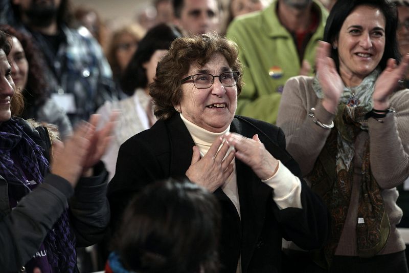
POLYGON ((96 243, 109 222, 99 159, 113 124, 96 131, 93 116, 63 145, 46 127, 16 117, 23 103, 10 41, 0 31, 0 270, 78 272, 75 247, 96 243))

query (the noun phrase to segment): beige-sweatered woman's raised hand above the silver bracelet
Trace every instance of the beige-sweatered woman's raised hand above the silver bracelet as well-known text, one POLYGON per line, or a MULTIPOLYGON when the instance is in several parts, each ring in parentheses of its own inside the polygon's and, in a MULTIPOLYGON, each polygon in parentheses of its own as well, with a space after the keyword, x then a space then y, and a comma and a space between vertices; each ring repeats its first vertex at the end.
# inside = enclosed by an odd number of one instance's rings
POLYGON ((330 112, 335 113, 339 98, 344 91, 344 82, 339 76, 335 62, 331 56, 331 44, 320 41, 315 56, 315 65, 324 93, 323 106, 330 112))

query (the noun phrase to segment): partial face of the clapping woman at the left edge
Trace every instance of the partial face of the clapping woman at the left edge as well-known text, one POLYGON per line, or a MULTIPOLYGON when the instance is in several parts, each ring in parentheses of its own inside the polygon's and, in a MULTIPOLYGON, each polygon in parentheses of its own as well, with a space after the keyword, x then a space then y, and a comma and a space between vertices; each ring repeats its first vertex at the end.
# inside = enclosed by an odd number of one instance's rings
POLYGON ((11 78, 11 66, 6 53, 0 49, 0 123, 11 117, 10 101, 14 95, 14 82, 11 78))

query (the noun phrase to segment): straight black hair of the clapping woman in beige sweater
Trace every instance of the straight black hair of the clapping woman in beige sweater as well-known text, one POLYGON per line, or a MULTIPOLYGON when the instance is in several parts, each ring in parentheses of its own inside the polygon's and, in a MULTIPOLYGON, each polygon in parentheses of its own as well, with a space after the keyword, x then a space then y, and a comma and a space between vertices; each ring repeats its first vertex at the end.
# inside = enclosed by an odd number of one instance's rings
MULTIPOLYGON (((398 13, 396 6, 390 3, 389 0, 339 0, 332 7, 327 18, 327 23, 324 30, 324 41, 333 43, 339 36, 339 31, 344 24, 345 19, 358 6, 370 6, 378 8, 385 17, 385 49, 383 56, 379 62, 379 67, 384 70, 387 66, 389 58, 394 58, 400 62, 400 53, 398 50, 398 41, 396 38, 396 30, 398 24, 398 13)), ((331 50, 331 57, 335 61, 335 65, 339 70, 338 50, 331 50)), ((338 71, 339 72, 339 71, 338 71)))

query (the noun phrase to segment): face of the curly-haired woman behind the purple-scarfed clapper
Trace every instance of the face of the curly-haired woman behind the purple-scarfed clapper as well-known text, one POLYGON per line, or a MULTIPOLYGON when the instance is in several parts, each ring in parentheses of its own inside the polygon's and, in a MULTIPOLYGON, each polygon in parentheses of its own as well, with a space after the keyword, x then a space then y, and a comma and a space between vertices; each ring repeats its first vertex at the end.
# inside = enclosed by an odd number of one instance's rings
POLYGON ((9 53, 11 62, 11 77, 14 84, 20 90, 25 89, 29 74, 29 63, 26 59, 26 54, 22 49, 20 41, 16 37, 12 37, 13 42, 9 53))

